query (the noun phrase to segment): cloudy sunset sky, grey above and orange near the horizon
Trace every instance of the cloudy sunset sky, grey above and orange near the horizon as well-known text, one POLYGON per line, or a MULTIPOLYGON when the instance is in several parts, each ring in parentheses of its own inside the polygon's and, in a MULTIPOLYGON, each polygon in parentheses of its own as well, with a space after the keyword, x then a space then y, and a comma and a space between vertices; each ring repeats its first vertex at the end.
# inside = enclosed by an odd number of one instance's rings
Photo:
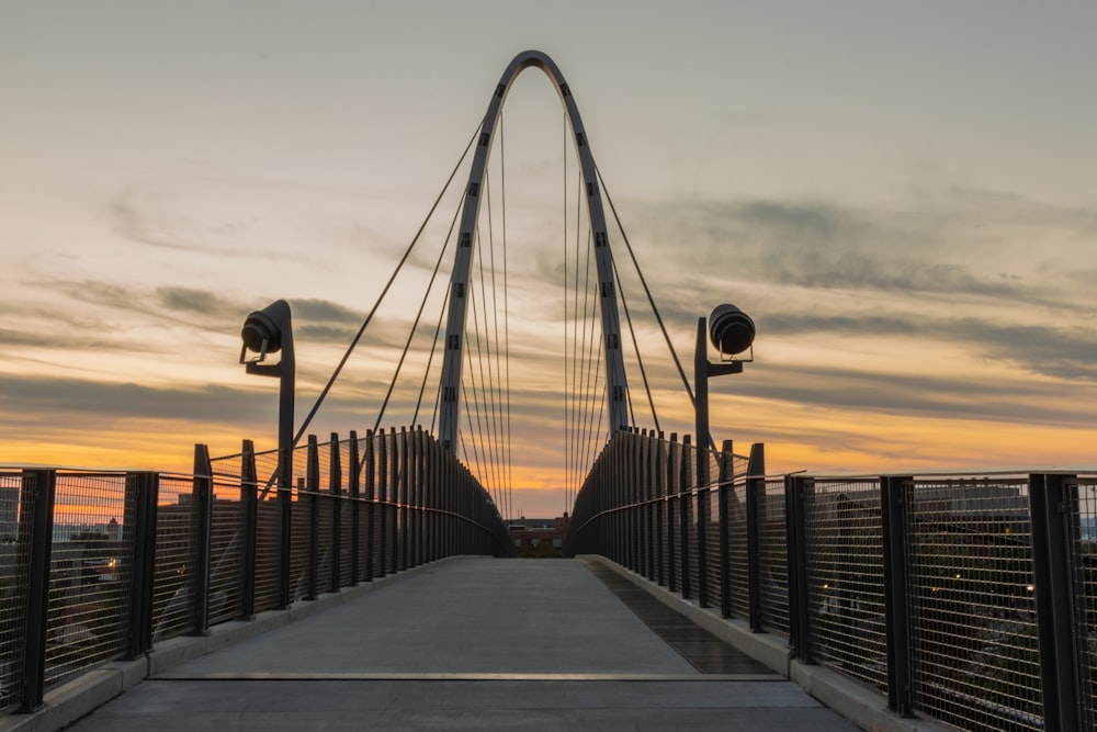
MULTIPOLYGON (((711 385, 717 440, 765 442, 771 473, 1094 465, 1095 37, 1085 2, 4 0, 0 462, 186 471, 195 442, 273 448, 276 384, 238 363, 244 317, 291 303, 299 424, 536 48, 687 367, 715 305, 757 324, 754 362, 711 385)), ((528 70, 493 151, 527 515, 568 495, 564 129, 528 70)), ((453 210, 321 439, 373 426, 453 210)), ((638 328, 660 426, 691 432, 638 328)))

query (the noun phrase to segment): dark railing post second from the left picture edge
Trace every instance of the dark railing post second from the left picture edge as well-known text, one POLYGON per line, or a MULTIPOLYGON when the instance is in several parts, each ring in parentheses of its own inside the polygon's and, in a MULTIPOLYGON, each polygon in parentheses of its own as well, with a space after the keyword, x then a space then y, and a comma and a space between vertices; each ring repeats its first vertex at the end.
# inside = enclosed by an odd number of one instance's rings
POLYGON ((133 576, 129 578, 131 660, 152 650, 152 582, 156 575, 156 473, 126 474, 126 500, 134 505, 133 576))

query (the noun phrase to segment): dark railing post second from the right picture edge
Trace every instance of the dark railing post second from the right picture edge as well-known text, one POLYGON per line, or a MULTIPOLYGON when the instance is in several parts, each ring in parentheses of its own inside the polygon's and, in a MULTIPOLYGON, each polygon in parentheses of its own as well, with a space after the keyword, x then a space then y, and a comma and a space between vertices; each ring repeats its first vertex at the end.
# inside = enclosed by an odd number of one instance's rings
POLYGON ((880 478, 884 550, 884 628, 887 642, 887 709, 914 714, 911 655, 909 525, 912 476, 880 478))

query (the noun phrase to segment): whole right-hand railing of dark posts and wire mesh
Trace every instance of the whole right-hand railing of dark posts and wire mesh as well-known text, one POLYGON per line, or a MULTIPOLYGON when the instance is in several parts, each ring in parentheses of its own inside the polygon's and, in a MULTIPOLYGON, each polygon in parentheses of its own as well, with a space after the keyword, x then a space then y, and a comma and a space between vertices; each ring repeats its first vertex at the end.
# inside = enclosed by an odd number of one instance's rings
POLYGON ((619 432, 565 553, 778 634, 801 663, 964 730, 1094 729, 1097 476, 765 476, 725 442, 619 432), (654 559, 653 559, 654 558, 654 559))

